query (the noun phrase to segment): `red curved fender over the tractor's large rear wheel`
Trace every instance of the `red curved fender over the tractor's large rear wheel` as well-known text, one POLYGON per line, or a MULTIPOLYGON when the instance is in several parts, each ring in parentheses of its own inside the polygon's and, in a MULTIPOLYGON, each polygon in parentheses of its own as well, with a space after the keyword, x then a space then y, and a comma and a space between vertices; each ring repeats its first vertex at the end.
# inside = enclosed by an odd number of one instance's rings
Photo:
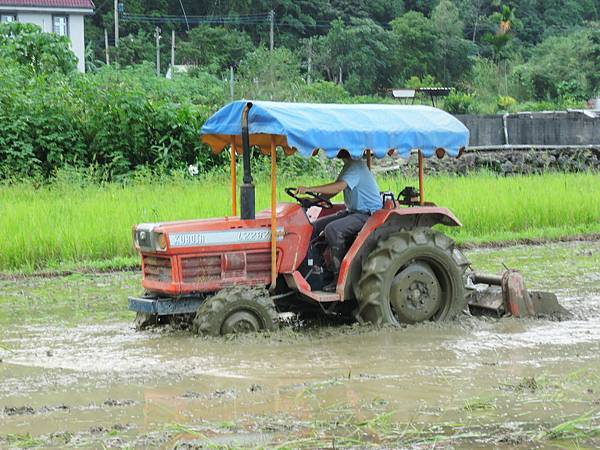
POLYGON ((337 293, 343 300, 357 296, 356 285, 362 271, 363 259, 371 253, 381 239, 399 230, 416 227, 431 228, 442 224, 461 227, 462 223, 447 208, 414 207, 381 209, 374 213, 356 236, 340 266, 337 293))

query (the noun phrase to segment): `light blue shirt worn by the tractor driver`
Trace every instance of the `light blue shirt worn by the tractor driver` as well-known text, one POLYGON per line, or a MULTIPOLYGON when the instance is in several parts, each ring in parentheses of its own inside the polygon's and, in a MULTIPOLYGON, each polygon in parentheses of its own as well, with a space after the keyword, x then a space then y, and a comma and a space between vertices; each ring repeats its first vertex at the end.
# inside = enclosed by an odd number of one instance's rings
POLYGON ((373 213, 381 209, 381 196, 375 177, 366 161, 352 159, 344 162, 338 181, 348 185, 344 189, 344 203, 350 211, 373 213))

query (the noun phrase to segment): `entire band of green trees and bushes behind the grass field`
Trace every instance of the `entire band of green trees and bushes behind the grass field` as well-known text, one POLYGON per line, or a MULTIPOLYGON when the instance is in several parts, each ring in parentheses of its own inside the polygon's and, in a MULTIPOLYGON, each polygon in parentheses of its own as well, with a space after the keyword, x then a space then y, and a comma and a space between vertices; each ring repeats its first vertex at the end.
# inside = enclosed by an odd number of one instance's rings
POLYGON ((231 99, 231 67, 233 98, 394 102, 392 87, 446 85, 454 88, 439 104, 446 110, 498 113, 584 107, 600 95, 600 0, 127 0, 126 14, 184 8, 196 22, 192 16, 239 18, 189 30, 161 19, 161 73, 172 29, 176 64, 188 66, 172 80, 154 73, 155 23, 147 18, 121 18, 119 47, 104 64, 111 8, 100 3, 86 19, 85 75, 75 72, 66 38, 0 25, 0 179, 73 166, 108 179, 148 167, 212 170, 222 159, 202 147, 198 130, 231 99), (271 9, 273 51, 264 20, 271 9), (259 14, 255 23, 248 14, 259 14))

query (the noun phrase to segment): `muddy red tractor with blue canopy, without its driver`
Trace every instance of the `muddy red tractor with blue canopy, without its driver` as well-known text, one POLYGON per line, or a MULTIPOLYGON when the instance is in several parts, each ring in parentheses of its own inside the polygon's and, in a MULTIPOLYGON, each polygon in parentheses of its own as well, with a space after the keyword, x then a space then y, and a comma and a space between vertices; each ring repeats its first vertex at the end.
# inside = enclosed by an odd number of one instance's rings
MULTIPOLYGON (((231 153, 232 214, 134 227, 145 293, 130 297, 129 308, 138 313, 139 327, 179 315, 193 319, 198 332, 221 335, 273 330, 279 312, 304 307, 351 313, 376 325, 448 320, 469 300, 482 309, 507 309, 506 301, 494 303, 498 295, 492 301, 466 288, 472 285, 469 262, 452 239, 432 228, 461 226, 448 209, 425 202, 423 186, 423 158, 458 156, 468 143, 468 130, 453 116, 425 106, 238 101, 204 124, 202 139, 215 153, 226 148, 231 153), (253 147, 271 156, 271 208, 258 213, 253 147), (353 158, 366 158, 369 167, 373 156, 418 152, 418 189, 382 194, 381 209, 347 243, 334 293, 321 290, 331 281, 328 249, 322 237, 311 240, 311 223, 344 205, 318 194, 299 196, 294 188, 286 189, 294 202, 277 203, 277 147, 286 155, 323 151, 328 158, 345 149, 353 158)), ((530 305, 531 295, 525 294, 521 301, 530 305)))

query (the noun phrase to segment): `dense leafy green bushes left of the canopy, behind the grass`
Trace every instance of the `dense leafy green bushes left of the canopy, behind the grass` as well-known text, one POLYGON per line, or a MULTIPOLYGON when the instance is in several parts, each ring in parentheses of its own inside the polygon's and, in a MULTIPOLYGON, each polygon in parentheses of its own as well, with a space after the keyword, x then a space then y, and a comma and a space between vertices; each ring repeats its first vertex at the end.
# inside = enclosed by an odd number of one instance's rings
POLYGON ((0 177, 49 177, 73 166, 119 178, 139 166, 158 172, 220 164, 199 140, 223 103, 220 80, 165 80, 150 66, 96 74, 40 74, 0 66, 0 177))

